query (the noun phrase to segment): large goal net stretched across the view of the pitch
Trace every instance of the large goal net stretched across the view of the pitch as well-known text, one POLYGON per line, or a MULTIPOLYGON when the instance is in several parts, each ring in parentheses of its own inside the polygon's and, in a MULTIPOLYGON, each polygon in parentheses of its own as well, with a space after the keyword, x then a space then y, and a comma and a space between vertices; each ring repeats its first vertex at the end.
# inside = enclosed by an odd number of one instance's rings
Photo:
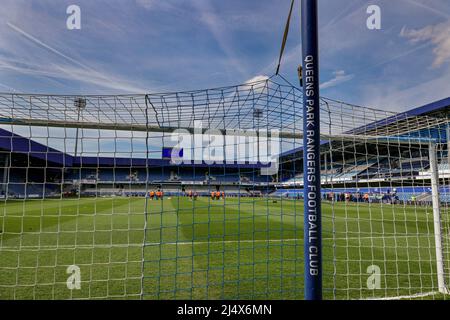
MULTIPOLYGON (((303 298, 308 133, 283 78, 0 105, 0 299, 303 298)), ((448 120, 320 109, 324 298, 447 298, 448 120)))

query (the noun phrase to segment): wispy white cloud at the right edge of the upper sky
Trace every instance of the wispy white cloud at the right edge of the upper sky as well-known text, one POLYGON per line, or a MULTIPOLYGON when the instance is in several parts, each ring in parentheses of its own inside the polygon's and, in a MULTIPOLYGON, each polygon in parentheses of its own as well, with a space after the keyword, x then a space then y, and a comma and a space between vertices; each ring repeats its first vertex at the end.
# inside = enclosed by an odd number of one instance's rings
POLYGON ((450 61, 450 22, 426 26, 422 29, 407 29, 403 27, 400 36, 411 43, 431 42, 434 46, 433 67, 440 67, 450 61))

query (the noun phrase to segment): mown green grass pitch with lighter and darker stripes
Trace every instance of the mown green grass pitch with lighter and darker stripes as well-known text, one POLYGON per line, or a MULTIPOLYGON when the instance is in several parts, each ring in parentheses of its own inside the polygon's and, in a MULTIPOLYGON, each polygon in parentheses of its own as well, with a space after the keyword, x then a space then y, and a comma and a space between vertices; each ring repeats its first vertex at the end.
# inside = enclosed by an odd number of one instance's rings
MULTIPOLYGON (((1 203, 0 299, 138 299, 141 283, 146 299, 303 298, 301 201, 149 201, 145 229, 144 212, 142 198, 1 203)), ((324 203, 323 238, 327 299, 437 290, 431 208, 324 203), (370 265, 381 289, 367 288, 370 265)))

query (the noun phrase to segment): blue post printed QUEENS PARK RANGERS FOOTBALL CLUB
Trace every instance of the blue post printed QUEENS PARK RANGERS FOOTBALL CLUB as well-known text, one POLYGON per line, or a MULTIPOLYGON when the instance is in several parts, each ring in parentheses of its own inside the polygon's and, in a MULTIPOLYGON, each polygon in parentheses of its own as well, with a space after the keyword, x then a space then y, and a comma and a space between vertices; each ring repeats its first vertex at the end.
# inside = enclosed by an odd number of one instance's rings
POLYGON ((305 299, 322 299, 320 93, 317 0, 302 0, 305 299))

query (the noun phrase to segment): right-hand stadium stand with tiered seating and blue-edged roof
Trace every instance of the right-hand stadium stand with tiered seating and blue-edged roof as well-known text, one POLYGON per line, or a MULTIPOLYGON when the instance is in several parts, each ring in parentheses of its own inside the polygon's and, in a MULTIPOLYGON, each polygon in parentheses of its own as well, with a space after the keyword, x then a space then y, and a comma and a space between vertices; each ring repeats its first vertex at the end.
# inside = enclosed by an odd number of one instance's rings
MULTIPOLYGON (((373 195, 383 198, 395 194, 399 201, 422 199, 431 202, 431 174, 429 141, 439 145, 439 178, 450 178, 448 135, 450 98, 403 112, 395 117, 357 127, 346 133, 352 135, 347 141, 322 141, 321 185, 322 194, 333 192, 334 198, 345 193, 373 195), (409 124, 409 119, 423 118, 420 123, 409 124), (429 126, 430 119, 436 120, 429 126), (441 121, 442 120, 442 121, 441 121), (373 143, 359 140, 358 134, 380 137, 373 143), (389 136, 389 140, 381 137, 389 136), (416 143, 411 141, 416 140, 416 143), (337 193, 337 194, 336 194, 337 193)), ((420 121, 420 120, 419 120, 420 121)), ((275 193, 279 196, 302 197, 303 195, 303 148, 288 151, 281 156, 283 181, 275 193)), ((441 201, 449 202, 447 188, 441 189, 441 201)))

